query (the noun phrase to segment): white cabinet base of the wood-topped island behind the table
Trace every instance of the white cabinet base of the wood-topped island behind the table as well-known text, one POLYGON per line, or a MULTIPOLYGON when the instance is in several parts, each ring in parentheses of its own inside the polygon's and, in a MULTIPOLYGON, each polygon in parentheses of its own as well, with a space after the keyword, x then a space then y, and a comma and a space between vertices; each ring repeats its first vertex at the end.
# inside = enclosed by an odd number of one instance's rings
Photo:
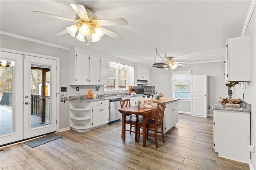
MULTIPOLYGON (((157 106, 157 103, 152 103, 157 106)), ((179 121, 179 104, 178 101, 166 103, 164 112, 164 133, 174 127, 179 121)), ((160 130, 160 129, 159 129, 160 130)))

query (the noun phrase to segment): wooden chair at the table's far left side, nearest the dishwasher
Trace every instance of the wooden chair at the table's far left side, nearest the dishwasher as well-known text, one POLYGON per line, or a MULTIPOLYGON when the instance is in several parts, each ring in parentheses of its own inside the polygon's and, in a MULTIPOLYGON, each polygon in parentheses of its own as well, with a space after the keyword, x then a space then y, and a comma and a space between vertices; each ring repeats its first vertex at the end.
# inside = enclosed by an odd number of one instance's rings
MULTIPOLYGON (((121 105, 121 108, 130 107, 131 106, 130 99, 120 100, 120 105, 121 105)), ((137 142, 137 122, 138 122, 138 120, 139 120, 138 116, 133 117, 132 115, 126 116, 126 119, 125 119, 125 123, 130 125, 130 129, 125 129, 125 130, 129 131, 130 134, 132 132, 135 134, 135 142, 137 142), (134 131, 132 130, 132 127, 134 127, 134 131)))

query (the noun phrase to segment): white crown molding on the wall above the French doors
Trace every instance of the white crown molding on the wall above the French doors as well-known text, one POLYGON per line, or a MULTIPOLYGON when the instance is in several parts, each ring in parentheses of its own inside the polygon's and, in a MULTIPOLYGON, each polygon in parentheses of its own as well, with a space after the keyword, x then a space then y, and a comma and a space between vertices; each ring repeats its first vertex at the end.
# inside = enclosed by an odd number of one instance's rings
POLYGON ((19 36, 19 35, 12 34, 12 33, 9 33, 9 32, 0 31, 0 34, 5 35, 5 36, 14 37, 14 38, 19 38, 19 39, 30 41, 30 42, 41 43, 41 44, 44 44, 44 45, 49 45, 49 46, 52 46, 52 47, 69 50, 68 47, 64 47, 62 45, 57 45, 57 44, 54 44, 54 43, 43 42, 43 41, 40 41, 40 40, 36 40, 36 39, 33 39, 33 38, 24 37, 24 36, 19 36))

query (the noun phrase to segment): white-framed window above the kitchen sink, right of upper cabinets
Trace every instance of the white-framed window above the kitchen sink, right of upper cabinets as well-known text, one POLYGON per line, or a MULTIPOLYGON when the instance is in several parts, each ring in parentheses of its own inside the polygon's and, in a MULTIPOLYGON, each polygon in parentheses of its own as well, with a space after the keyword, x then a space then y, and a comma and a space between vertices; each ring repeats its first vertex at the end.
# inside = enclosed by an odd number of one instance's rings
POLYGON ((127 69, 119 68, 119 64, 110 63, 109 85, 105 86, 105 90, 127 89, 127 83, 127 69))

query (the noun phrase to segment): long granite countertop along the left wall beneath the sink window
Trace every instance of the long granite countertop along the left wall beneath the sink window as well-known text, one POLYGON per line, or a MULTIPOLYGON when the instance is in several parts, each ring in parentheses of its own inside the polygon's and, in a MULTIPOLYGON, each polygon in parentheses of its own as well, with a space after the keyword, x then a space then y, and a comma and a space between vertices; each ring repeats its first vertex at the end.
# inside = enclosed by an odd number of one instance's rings
POLYGON ((109 99, 117 99, 117 98, 127 98, 127 97, 142 97, 142 95, 123 95, 123 96, 108 96, 108 95, 98 95, 96 99, 88 99, 87 95, 84 96, 70 96, 68 101, 75 102, 92 102, 92 101, 101 101, 101 100, 109 100, 109 99))

